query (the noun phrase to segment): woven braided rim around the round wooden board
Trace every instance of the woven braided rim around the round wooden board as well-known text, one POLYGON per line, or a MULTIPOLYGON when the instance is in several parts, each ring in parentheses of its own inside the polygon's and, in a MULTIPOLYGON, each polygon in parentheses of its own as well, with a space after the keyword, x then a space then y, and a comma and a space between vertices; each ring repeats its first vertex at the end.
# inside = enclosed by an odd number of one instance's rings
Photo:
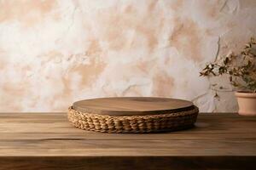
POLYGON ((74 127, 102 133, 157 133, 193 127, 198 108, 146 116, 106 116, 68 108, 67 117, 74 127))

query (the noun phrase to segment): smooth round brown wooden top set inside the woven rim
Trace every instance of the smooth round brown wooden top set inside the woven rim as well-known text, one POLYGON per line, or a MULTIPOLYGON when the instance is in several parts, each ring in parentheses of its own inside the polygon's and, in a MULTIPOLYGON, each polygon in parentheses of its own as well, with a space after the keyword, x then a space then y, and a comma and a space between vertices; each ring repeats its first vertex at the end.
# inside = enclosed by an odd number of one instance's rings
POLYGON ((109 116, 131 116, 188 111, 194 109, 194 107, 192 102, 182 99, 125 97, 84 99, 75 102, 73 109, 109 116))

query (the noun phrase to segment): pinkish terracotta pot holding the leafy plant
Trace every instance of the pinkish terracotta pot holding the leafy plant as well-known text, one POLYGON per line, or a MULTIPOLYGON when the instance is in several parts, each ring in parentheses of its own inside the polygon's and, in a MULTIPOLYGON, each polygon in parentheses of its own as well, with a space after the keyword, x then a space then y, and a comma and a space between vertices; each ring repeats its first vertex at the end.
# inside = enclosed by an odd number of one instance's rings
POLYGON ((236 92, 239 115, 256 116, 256 93, 236 92))

